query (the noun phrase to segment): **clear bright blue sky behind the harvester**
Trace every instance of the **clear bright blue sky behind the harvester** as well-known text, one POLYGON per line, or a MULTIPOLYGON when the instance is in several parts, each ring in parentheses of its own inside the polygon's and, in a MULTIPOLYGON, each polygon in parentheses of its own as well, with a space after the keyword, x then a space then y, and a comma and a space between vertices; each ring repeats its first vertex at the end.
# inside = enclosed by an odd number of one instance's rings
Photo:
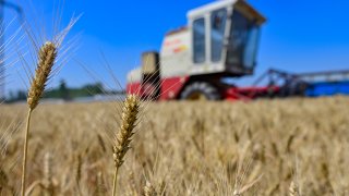
MULTIPOLYGON (((55 2, 44 0, 21 0, 25 12, 35 8, 45 28, 52 26, 55 2)), ((14 1, 15 2, 15 1, 14 1)), ((103 51, 112 66, 115 75, 125 84, 127 73, 140 62, 145 50, 159 50, 166 32, 186 24, 186 11, 213 0, 133 0, 91 1, 65 0, 62 24, 68 24, 73 13, 83 13, 71 36, 79 34, 79 49, 75 59, 98 73, 97 78, 106 85, 115 86, 103 65, 103 51)), ((262 29, 257 68, 254 76, 268 68, 291 72, 349 69, 349 1, 347 0, 249 0, 267 17, 262 29)), ((5 12, 5 20, 13 13, 5 12)), ((34 20, 34 19, 28 19, 34 20)), ((37 19, 36 19, 37 20, 37 19)), ((11 33, 8 33, 11 34, 11 33)), ((71 38, 71 37, 68 37, 71 38)), ((20 68, 19 68, 20 69, 20 68)), ((9 89, 24 88, 15 72, 10 72, 9 89)), ((81 86, 94 82, 74 61, 65 64, 51 82, 56 86, 60 79, 69 86, 81 86)))

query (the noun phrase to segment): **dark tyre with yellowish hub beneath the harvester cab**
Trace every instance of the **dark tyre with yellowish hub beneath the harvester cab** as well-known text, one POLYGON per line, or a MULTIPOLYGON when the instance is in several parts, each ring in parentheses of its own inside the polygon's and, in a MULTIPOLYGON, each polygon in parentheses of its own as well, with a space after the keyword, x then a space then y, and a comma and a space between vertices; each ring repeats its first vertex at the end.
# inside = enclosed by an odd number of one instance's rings
POLYGON ((181 93, 181 99, 185 100, 219 100, 218 89, 205 82, 194 82, 188 85, 181 93))

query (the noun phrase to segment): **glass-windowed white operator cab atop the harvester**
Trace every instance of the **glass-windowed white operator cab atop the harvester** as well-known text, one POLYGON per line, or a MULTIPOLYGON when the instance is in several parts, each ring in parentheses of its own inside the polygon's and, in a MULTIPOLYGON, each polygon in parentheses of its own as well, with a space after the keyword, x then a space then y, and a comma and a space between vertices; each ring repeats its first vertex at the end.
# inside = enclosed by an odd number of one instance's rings
POLYGON ((188 13, 193 74, 252 74, 265 19, 245 1, 225 0, 188 13), (208 71, 208 72, 207 72, 208 71))

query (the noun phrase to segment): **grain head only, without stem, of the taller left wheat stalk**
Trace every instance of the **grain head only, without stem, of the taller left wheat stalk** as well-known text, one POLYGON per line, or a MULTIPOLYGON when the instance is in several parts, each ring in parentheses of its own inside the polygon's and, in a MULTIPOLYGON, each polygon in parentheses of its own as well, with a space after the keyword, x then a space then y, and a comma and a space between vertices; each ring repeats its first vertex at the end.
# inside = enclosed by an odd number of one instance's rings
POLYGON ((38 53, 38 63, 35 71, 35 76, 32 81, 28 91, 27 103, 34 110, 43 97, 46 83, 52 71, 52 66, 57 57, 57 47, 53 42, 47 41, 41 46, 38 53))

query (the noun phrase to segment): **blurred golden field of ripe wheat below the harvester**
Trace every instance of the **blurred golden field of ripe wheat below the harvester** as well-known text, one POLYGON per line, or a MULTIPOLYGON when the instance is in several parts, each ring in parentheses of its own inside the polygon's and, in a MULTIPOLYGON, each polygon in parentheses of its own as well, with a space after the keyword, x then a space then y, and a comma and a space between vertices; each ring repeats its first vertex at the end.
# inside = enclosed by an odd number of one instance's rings
MULTIPOLYGON (((348 195, 349 98, 144 103, 119 195, 348 195), (300 192, 300 193, 298 193, 300 192)), ((41 105, 29 195, 111 195, 120 103, 41 105)), ((0 195, 19 193, 25 105, 0 106, 0 195)))

